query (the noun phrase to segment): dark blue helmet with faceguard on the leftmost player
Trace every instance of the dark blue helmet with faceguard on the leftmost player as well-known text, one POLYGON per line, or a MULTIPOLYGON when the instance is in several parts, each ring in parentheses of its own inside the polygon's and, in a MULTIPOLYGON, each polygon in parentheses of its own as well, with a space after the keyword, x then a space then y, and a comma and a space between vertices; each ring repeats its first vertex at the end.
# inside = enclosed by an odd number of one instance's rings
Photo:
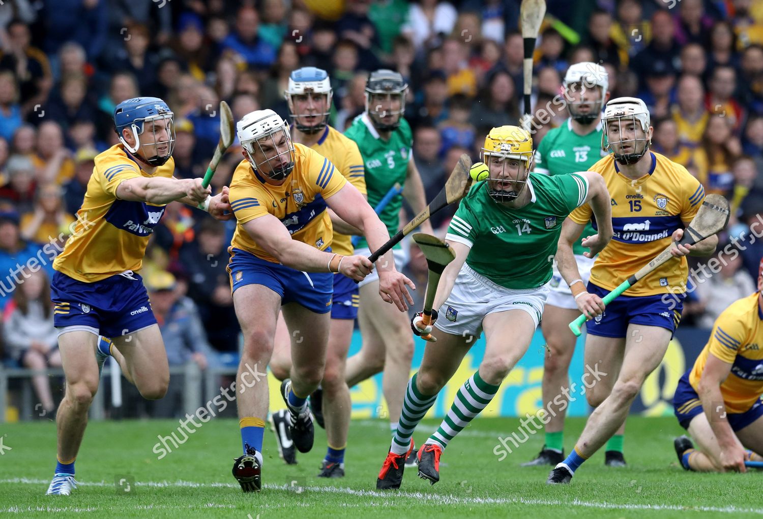
MULTIPOLYGON (((119 141, 131 153, 137 152, 141 146, 150 146, 151 151, 144 153, 143 160, 152 166, 160 166, 169 160, 172 155, 172 149, 175 147, 175 125, 172 124, 172 111, 169 106, 159 98, 133 98, 122 101, 114 108, 114 130, 116 130, 119 141), (140 143, 140 135, 145 130, 145 123, 155 120, 164 120, 166 124, 166 139, 157 138, 156 125, 152 125, 153 142, 140 143), (130 146, 125 142, 122 130, 129 128, 135 138, 135 146, 130 146), (166 152, 159 155, 159 148, 166 148, 166 152), (151 156, 149 156, 149 154, 151 156)), ((163 130, 159 127, 159 133, 163 130)))

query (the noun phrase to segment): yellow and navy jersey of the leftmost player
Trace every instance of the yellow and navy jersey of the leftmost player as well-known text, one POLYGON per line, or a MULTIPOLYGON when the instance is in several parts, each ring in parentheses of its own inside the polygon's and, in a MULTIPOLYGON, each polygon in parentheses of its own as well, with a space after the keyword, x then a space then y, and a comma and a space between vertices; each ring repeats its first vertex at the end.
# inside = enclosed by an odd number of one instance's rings
POLYGON ((85 283, 140 270, 148 239, 165 206, 121 200, 117 187, 141 176, 171 178, 173 171, 175 162, 170 158, 153 175, 146 173, 121 144, 96 156, 74 233, 53 268, 85 283))

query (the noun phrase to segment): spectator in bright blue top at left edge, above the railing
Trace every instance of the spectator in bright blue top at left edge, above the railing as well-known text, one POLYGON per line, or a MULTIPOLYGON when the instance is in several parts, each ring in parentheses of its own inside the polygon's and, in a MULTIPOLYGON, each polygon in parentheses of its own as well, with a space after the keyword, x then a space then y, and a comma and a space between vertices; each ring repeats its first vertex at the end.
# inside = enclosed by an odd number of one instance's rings
POLYGON ((11 207, 0 209, 0 309, 11 300, 18 284, 40 266, 48 279, 53 277, 53 258, 63 249, 46 245, 40 248, 21 239, 18 229, 18 213, 11 207))

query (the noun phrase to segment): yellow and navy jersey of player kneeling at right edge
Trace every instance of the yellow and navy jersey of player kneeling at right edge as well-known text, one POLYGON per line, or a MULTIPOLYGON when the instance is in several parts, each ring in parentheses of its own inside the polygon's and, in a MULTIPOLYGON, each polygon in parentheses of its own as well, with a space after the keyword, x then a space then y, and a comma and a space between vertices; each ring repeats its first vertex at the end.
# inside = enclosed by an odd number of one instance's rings
POLYGON ((731 364, 720 386, 726 411, 747 411, 763 394, 763 309, 755 292, 723 310, 713 325, 710 340, 694 362, 689 383, 697 390, 708 355, 731 364))

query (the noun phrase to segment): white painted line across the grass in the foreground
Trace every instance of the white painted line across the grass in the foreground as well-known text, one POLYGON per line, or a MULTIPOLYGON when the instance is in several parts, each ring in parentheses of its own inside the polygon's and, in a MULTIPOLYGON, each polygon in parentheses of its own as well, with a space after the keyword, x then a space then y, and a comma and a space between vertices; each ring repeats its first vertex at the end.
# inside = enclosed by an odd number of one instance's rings
MULTIPOLYGON (((11 478, 0 479, 0 483, 21 483, 24 485, 47 485, 47 479, 28 479, 28 478, 11 478)), ((98 481, 98 482, 78 482, 78 486, 111 486, 113 483, 98 481)), ((148 482, 134 482, 136 486, 147 487, 188 487, 192 489, 198 488, 221 488, 230 487, 238 488, 236 483, 198 483, 192 481, 148 481, 148 482)), ((266 489, 273 490, 286 490, 286 485, 275 485, 272 483, 266 483, 264 485, 266 489)), ((605 510, 669 510, 669 511, 700 511, 700 512, 716 512, 723 514, 760 514, 763 515, 763 508, 738 508, 733 505, 726 507, 712 507, 712 506, 682 506, 682 505, 631 505, 620 503, 608 503, 606 501, 581 501, 580 499, 574 499, 572 501, 560 501, 557 499, 528 499, 528 498, 462 498, 452 494, 424 494, 423 492, 378 492, 377 490, 356 490, 348 489, 346 487, 331 487, 331 486, 307 486, 304 487, 304 492, 325 492, 330 494, 344 494, 354 495, 359 498, 385 498, 385 499, 399 499, 399 498, 411 498, 417 499, 417 501, 431 501, 438 505, 544 505, 544 506, 578 506, 582 508, 602 508, 605 510)), ((296 505, 290 504, 290 505, 296 505)), ((303 505, 307 505, 304 503, 303 505)), ((163 505, 141 505, 151 508, 165 508, 163 505)), ((235 508, 228 505, 215 505, 208 503, 204 505, 207 507, 219 506, 220 508, 235 508)), ((39 511, 46 511, 50 507, 37 507, 39 511)), ((166 507, 177 508, 177 507, 166 507)), ((188 508, 195 508, 195 505, 189 505, 188 508)), ((267 506, 265 508, 268 508, 267 506)), ((278 508, 278 507, 274 507, 278 508)), ((34 511, 32 508, 21 509, 18 507, 8 508, 8 512, 20 512, 20 511, 34 511)), ((53 511, 52 508, 50 508, 53 511)), ((82 508, 81 511, 97 511, 98 508, 82 508)), ((56 510, 58 511, 58 510, 56 510)), ((62 511, 66 511, 63 509, 62 511)))

